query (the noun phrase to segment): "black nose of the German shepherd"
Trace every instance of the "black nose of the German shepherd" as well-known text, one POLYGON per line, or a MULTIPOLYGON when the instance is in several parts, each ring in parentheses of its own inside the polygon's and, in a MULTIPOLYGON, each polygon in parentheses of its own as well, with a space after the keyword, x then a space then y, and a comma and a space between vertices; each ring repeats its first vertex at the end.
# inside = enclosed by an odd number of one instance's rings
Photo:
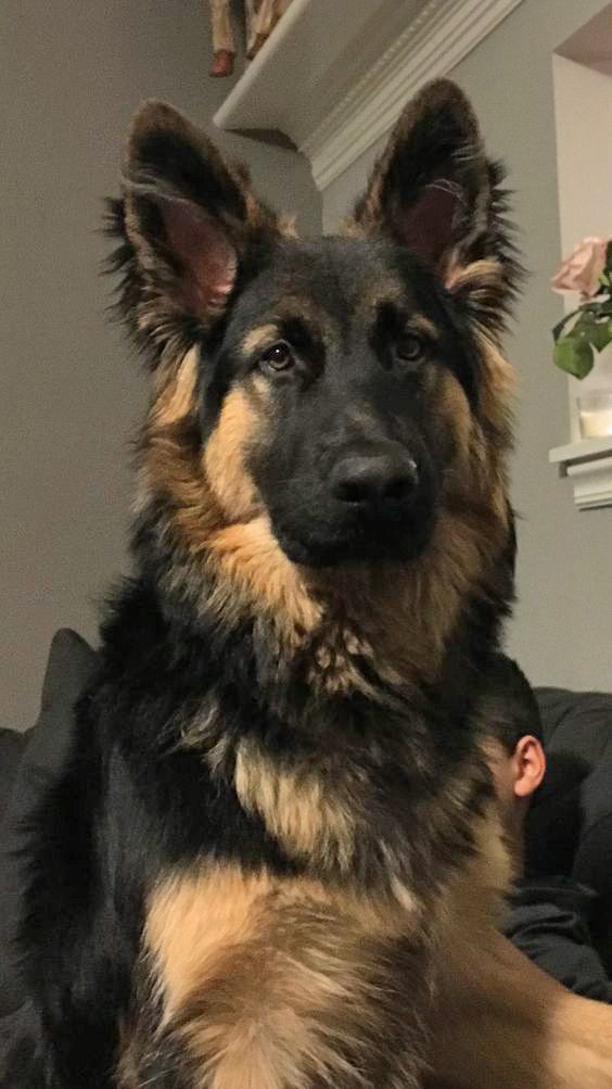
POLYGON ((404 451, 344 457, 330 476, 335 499, 364 510, 408 506, 418 484, 416 462, 404 451))

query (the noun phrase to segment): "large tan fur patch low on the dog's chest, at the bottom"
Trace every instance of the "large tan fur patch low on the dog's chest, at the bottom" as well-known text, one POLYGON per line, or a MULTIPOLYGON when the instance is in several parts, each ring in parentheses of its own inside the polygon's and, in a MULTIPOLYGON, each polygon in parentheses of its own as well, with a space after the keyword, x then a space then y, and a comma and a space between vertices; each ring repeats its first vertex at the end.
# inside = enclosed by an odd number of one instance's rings
POLYGON ((359 1085, 348 1056, 362 1054, 365 1073, 380 1043, 380 957, 408 931, 389 905, 224 866, 162 884, 145 942, 163 1027, 195 1060, 197 1084, 308 1089, 316 1077, 359 1085))

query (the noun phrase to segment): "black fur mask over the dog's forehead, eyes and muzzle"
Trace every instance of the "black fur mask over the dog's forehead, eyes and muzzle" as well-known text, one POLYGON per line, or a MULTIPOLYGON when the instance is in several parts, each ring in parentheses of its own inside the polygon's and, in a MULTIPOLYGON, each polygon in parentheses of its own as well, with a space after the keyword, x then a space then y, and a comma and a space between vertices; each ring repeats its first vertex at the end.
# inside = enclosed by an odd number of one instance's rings
POLYGON ((454 453, 437 400, 454 381, 468 406, 477 369, 418 258, 389 241, 286 241, 231 309, 201 394, 205 437, 241 383, 257 420, 245 465, 286 555, 412 559, 454 453))

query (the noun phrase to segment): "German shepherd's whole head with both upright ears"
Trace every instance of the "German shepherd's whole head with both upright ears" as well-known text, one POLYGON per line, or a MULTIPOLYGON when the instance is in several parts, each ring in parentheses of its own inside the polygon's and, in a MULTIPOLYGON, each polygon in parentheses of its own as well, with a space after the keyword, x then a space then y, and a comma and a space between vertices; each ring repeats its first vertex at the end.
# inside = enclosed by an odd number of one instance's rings
POLYGON ((463 94, 431 84, 341 234, 301 241, 199 131, 140 109, 114 206, 154 383, 139 531, 192 583, 411 564, 453 511, 503 521, 498 173, 463 94))

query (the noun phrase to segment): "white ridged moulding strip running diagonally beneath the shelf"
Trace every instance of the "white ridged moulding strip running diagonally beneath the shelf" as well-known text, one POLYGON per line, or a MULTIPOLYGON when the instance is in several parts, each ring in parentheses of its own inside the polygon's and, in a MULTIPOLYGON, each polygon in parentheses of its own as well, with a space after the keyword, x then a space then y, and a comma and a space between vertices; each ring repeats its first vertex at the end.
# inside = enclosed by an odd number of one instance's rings
POLYGON ((299 144, 327 188, 395 122, 427 81, 446 75, 522 0, 429 0, 317 129, 299 144))

